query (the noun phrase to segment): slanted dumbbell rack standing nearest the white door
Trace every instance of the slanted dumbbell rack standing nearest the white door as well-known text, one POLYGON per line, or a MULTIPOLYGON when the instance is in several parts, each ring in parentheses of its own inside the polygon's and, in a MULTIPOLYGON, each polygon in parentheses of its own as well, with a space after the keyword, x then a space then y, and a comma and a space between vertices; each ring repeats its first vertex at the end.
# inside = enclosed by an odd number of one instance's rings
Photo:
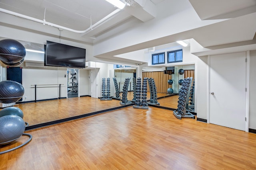
POLYGON ((173 111, 174 116, 178 119, 181 119, 182 117, 195 119, 195 116, 192 113, 186 113, 186 105, 190 96, 192 80, 193 77, 185 78, 184 82, 182 83, 182 87, 180 88, 181 90, 179 92, 178 108, 173 111))

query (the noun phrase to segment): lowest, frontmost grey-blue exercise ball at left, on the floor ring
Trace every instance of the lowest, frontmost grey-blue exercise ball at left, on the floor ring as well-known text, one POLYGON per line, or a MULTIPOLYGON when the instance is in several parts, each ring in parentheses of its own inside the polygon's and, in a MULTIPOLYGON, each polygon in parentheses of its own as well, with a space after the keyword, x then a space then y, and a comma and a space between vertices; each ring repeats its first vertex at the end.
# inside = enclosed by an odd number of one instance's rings
POLYGON ((7 145, 22 136, 25 122, 17 115, 0 117, 0 145, 7 145))

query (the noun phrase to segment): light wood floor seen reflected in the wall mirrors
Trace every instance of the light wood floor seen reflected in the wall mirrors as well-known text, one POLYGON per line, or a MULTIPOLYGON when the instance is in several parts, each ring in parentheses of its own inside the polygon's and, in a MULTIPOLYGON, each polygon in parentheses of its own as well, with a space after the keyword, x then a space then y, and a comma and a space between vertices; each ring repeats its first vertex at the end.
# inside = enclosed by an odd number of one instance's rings
MULTIPOLYGON (((133 92, 129 92, 128 97, 132 99, 132 96, 133 92)), ((159 93, 158 96, 166 96, 166 94, 159 93)), ((150 94, 147 97, 149 100, 150 94)), ((160 106, 176 108, 178 98, 171 96, 158 101, 160 106)), ((100 100, 91 97, 67 98, 15 105, 15 107, 19 107, 23 111, 23 119, 29 125, 55 121, 119 106, 121 106, 120 100, 100 100)))

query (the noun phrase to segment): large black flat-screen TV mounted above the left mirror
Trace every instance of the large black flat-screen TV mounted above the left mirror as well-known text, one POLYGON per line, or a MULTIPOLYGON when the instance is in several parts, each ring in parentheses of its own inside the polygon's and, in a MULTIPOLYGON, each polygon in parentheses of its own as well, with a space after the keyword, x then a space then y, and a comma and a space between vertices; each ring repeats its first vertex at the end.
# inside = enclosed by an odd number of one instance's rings
POLYGON ((85 68, 85 52, 79 47, 46 41, 44 65, 85 68))

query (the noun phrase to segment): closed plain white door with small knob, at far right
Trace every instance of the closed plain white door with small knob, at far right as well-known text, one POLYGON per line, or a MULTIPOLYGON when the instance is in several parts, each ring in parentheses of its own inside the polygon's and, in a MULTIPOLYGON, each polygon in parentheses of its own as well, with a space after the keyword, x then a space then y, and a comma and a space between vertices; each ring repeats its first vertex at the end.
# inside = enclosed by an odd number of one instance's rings
POLYGON ((210 123, 245 131, 246 52, 210 56, 210 123))

